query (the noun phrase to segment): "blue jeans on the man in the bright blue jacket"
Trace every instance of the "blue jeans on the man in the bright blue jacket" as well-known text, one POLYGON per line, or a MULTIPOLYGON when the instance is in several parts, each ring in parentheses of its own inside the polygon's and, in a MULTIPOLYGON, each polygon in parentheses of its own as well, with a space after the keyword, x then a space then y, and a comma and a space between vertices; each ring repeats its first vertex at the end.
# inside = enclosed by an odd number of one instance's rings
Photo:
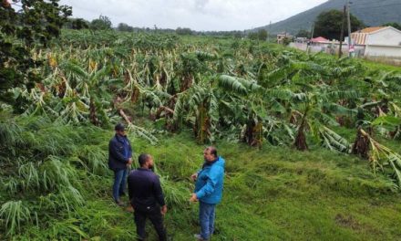
POLYGON ((209 240, 214 232, 214 217, 216 204, 199 203, 200 236, 209 240))

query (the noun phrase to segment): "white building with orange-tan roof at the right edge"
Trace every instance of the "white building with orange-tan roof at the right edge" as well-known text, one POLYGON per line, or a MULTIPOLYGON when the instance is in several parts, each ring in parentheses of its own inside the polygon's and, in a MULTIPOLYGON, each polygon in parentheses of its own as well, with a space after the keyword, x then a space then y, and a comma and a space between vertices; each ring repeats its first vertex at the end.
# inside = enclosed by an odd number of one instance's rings
POLYGON ((401 58, 401 31, 392 26, 367 27, 351 34, 356 47, 367 57, 401 58))

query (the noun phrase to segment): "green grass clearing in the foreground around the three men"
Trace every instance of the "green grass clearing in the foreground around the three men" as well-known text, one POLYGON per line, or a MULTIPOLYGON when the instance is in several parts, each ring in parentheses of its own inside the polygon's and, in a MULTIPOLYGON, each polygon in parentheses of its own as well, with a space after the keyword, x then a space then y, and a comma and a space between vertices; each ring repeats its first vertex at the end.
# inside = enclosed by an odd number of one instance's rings
MULTIPOLYGON (((98 131, 105 140, 88 144, 105 150, 112 132, 98 131)), ((88 133, 88 140, 93 134, 88 133)), ((198 204, 188 202, 193 188, 189 176, 200 167, 205 146, 185 132, 159 136, 154 146, 130 139, 137 155, 149 152, 155 158, 169 203, 165 221, 170 236, 191 240, 199 232, 199 223, 198 204)), ((226 159, 227 173, 212 240, 396 240, 401 236, 401 196, 386 176, 372 173, 364 160, 319 147, 311 152, 268 145, 257 150, 220 141, 217 148, 226 159)), ((55 210, 57 215, 48 214, 51 218, 45 223, 40 219, 46 214, 38 214, 39 225, 23 226, 13 238, 132 240, 132 214, 111 199, 112 173, 88 174, 92 168, 77 171, 90 180, 81 183, 84 204, 74 212, 55 210)), ((150 224, 148 231, 149 240, 156 240, 150 224)))

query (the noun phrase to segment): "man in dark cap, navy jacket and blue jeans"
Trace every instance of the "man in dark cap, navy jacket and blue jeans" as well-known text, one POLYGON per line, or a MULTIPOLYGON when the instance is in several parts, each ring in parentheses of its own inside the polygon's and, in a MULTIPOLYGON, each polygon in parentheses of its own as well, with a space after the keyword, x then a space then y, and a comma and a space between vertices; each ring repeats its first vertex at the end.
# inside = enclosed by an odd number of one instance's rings
POLYGON ((127 174, 132 163, 132 148, 123 124, 114 128, 116 135, 108 143, 108 168, 114 172, 113 198, 116 204, 124 205, 120 196, 125 195, 127 174))

